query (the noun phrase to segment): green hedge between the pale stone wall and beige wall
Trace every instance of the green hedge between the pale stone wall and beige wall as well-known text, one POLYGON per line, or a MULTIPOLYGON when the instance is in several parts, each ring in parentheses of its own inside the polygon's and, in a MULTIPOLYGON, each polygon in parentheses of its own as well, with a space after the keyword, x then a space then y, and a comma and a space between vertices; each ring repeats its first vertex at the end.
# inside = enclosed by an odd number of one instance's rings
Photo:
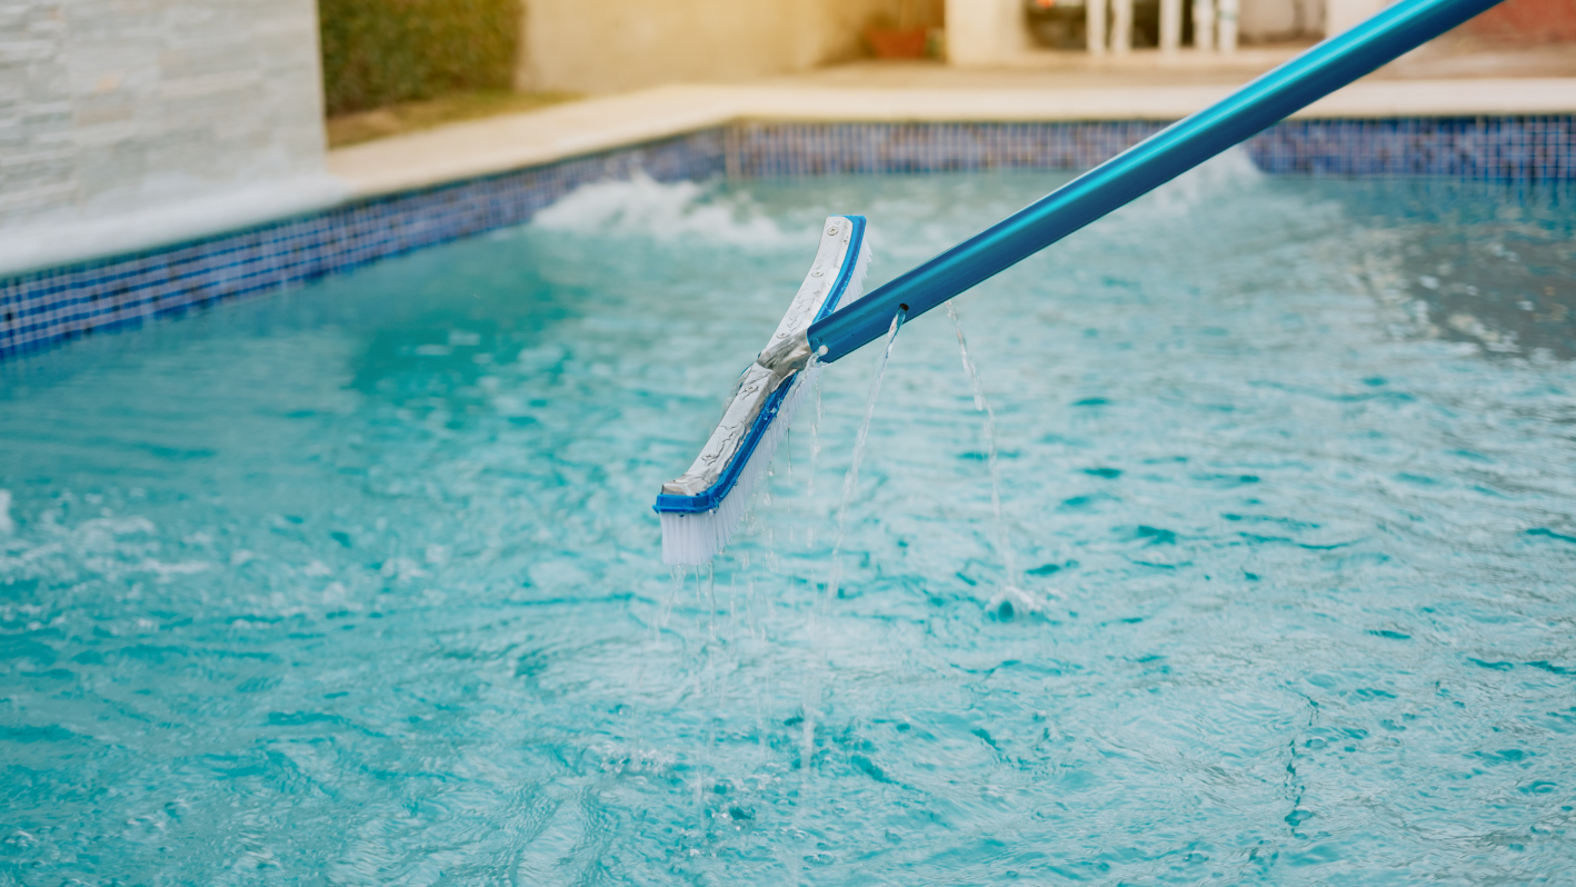
POLYGON ((318 0, 328 113, 509 88, 520 0, 318 0))

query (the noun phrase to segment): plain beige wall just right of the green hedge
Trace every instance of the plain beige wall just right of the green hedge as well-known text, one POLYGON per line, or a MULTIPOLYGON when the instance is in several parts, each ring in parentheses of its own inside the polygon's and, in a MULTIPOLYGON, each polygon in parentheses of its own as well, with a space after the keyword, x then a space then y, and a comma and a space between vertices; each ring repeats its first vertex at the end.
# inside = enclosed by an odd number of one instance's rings
POLYGON ((608 93, 727 82, 854 58, 913 0, 525 0, 525 90, 608 93), (660 13, 660 14, 659 14, 660 13))

